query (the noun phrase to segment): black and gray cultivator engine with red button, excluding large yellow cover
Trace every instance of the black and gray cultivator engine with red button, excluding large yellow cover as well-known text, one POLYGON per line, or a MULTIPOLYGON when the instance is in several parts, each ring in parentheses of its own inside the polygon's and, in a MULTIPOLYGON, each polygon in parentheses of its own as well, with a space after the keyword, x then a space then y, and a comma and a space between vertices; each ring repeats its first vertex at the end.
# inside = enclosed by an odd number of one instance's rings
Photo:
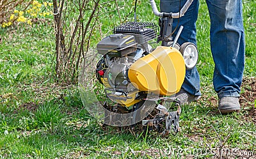
POLYGON ((131 84, 128 71, 131 64, 152 51, 148 41, 156 38, 156 29, 157 26, 149 22, 127 22, 115 27, 114 34, 97 44, 103 57, 97 64, 96 76, 111 100, 126 107, 140 102, 135 100, 140 98, 140 91, 131 84))

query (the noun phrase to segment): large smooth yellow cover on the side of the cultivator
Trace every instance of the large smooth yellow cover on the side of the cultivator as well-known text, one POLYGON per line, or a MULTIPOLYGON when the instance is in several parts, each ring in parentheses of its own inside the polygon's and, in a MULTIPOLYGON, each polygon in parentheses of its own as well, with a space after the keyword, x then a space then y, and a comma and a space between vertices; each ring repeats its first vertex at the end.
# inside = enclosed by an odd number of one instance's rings
POLYGON ((161 46, 133 63, 128 77, 140 91, 169 96, 180 90, 185 73, 184 59, 179 50, 161 46))

